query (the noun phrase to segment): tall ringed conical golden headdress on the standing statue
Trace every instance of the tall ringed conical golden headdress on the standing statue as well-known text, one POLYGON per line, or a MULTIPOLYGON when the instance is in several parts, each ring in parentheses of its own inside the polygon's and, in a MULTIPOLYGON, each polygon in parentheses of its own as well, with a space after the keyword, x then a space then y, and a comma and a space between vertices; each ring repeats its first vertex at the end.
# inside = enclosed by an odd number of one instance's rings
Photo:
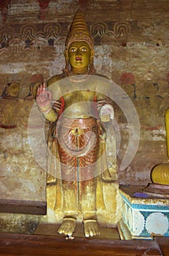
POLYGON ((90 48, 93 49, 93 39, 90 36, 90 32, 87 28, 87 23, 84 19, 84 14, 80 10, 76 12, 74 20, 71 24, 71 29, 66 39, 66 50, 68 50, 68 47, 71 44, 71 42, 74 41, 85 41, 90 45, 90 48))

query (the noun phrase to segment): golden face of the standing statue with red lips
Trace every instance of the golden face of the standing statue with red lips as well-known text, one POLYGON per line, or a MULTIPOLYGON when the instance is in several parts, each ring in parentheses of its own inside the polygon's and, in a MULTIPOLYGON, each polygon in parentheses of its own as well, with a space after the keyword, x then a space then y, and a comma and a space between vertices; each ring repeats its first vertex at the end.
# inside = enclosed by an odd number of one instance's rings
POLYGON ((71 42, 68 48, 68 59, 71 67, 87 68, 90 64, 91 50, 85 41, 71 42))

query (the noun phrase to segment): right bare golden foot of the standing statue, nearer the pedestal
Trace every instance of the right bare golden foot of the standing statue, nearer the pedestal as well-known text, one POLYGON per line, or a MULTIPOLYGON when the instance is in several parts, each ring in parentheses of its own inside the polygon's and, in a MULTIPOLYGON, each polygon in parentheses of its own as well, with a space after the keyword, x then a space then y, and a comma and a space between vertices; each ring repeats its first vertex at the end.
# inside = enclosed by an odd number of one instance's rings
POLYGON ((85 237, 100 235, 100 231, 98 228, 98 222, 95 219, 85 219, 84 220, 84 235, 85 235, 85 237))

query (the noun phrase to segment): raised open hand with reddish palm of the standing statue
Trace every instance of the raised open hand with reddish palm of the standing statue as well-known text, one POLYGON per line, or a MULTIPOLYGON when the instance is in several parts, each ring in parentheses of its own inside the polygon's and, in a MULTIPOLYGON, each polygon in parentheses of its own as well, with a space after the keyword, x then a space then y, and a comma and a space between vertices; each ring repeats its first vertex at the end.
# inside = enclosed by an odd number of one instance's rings
POLYGON ((42 83, 42 85, 37 89, 36 102, 40 108, 45 108, 52 105, 52 92, 46 91, 45 83, 42 83))

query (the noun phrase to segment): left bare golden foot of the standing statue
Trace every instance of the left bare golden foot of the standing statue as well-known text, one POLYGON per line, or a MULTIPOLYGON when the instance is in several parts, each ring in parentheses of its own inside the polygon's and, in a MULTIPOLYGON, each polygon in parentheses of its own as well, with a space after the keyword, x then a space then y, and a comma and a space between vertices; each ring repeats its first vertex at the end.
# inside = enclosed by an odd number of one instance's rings
POLYGON ((64 234, 66 236, 72 236, 74 233, 74 228, 76 226, 76 219, 74 218, 64 218, 62 225, 58 229, 58 233, 64 234))

